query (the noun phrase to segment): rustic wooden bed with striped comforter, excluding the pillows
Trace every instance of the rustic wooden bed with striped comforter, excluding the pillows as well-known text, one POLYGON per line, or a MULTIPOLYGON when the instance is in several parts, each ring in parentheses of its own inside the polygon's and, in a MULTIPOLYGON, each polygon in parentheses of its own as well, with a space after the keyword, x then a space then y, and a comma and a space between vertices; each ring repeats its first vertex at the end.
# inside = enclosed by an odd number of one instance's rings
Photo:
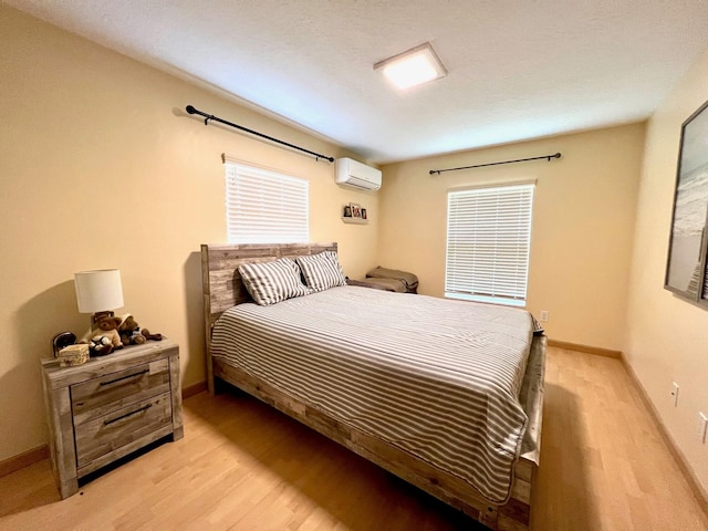
POLYGON ((201 247, 209 391, 228 382, 491 529, 528 529, 545 356, 530 315, 351 285, 252 303, 240 264, 325 251, 336 243, 201 247), (485 371, 450 368, 466 348, 485 371))

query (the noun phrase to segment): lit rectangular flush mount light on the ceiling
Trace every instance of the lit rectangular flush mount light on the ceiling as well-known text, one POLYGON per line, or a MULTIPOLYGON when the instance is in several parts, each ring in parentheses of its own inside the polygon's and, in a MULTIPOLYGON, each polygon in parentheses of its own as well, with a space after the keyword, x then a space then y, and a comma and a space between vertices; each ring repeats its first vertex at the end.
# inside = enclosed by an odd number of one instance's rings
POLYGON ((429 42, 420 44, 407 52, 385 59, 374 65, 397 88, 410 88, 428 81, 439 80, 447 75, 440 59, 429 42))

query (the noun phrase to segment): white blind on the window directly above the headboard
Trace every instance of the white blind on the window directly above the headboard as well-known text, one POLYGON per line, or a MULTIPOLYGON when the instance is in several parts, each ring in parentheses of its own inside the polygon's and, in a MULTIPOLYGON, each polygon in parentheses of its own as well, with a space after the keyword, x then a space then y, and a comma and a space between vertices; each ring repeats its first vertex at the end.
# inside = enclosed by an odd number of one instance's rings
POLYGON ((310 241, 310 181, 242 164, 225 166, 229 243, 310 241))

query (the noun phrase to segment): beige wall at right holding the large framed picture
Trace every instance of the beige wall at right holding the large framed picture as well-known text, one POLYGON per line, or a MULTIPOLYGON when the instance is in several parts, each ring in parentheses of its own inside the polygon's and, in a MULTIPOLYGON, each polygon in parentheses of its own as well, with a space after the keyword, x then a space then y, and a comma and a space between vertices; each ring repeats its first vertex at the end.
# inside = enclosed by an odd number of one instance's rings
POLYGON ((657 110, 647 142, 637 205, 625 354, 671 438, 708 491, 708 311, 664 290, 683 122, 708 100, 708 51, 657 110), (680 386, 674 407, 671 384, 680 386))

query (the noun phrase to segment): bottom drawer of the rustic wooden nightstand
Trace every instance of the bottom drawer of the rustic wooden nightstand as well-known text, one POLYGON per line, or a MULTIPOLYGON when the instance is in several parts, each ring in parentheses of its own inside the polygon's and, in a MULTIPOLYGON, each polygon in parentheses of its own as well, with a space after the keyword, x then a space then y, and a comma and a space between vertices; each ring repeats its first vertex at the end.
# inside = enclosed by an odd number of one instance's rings
POLYGON ((169 426, 173 421, 170 400, 170 394, 164 393, 76 426, 76 466, 81 468, 124 445, 169 426))

